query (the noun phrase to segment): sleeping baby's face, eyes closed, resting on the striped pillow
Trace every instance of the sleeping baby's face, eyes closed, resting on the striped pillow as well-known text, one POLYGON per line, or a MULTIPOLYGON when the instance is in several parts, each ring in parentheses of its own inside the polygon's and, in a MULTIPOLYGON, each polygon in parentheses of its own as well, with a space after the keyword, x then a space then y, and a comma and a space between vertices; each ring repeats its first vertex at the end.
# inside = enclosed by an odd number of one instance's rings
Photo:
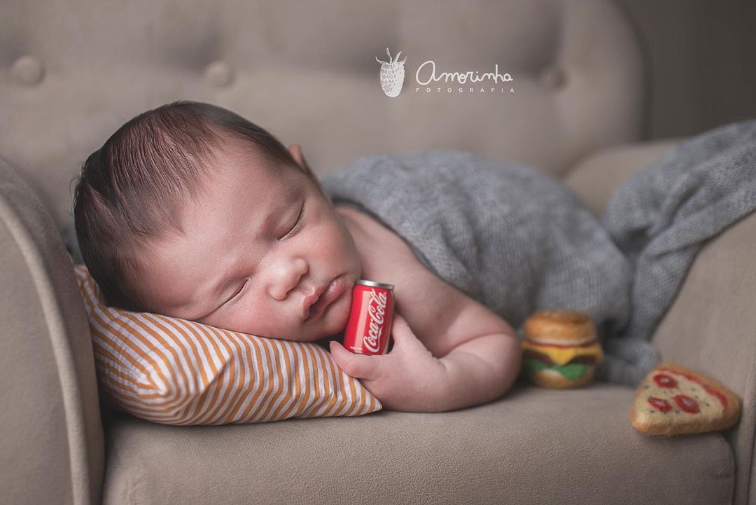
POLYGON ((153 264, 139 286, 149 306, 271 338, 339 333, 361 262, 318 179, 301 158, 297 169, 236 147, 215 156, 205 189, 182 209, 186 236, 150 244, 153 264), (305 298, 336 277, 345 287, 339 298, 305 313, 305 298))

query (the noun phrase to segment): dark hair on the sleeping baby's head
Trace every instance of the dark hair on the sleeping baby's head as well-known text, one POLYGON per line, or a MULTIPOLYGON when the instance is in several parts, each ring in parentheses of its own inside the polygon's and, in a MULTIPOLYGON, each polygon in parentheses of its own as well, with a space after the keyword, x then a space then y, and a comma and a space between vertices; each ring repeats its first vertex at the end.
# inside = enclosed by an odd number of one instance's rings
POLYGON ((196 196, 223 134, 263 159, 297 166, 265 129, 193 101, 139 114, 83 163, 73 197, 76 237, 106 305, 150 311, 135 290, 141 265, 149 261, 143 246, 155 237, 183 234, 181 203, 196 196))

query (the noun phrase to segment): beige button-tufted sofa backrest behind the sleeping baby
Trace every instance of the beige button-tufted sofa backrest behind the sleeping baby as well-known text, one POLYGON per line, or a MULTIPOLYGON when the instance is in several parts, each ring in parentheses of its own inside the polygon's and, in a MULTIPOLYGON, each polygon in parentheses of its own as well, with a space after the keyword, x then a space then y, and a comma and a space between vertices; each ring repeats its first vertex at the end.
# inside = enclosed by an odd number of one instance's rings
POLYGON ((126 120, 178 99, 228 107, 302 144, 321 174, 426 147, 560 173, 637 139, 642 78, 630 26, 604 0, 5 0, 0 156, 59 224, 86 156, 126 120), (386 46, 407 58, 396 98, 379 81, 386 46), (419 85, 429 60, 437 77, 497 65, 514 80, 419 85))

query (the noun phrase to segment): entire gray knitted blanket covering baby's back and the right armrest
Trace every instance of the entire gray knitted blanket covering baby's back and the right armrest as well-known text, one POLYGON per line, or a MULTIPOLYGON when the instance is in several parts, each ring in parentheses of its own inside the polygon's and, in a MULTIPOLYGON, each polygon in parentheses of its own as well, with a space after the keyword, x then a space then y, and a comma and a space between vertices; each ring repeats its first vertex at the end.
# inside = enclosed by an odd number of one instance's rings
POLYGON ((756 208, 756 121, 670 150, 615 192, 601 222, 558 179, 459 151, 363 156, 321 182, 519 331, 538 309, 587 312, 606 354, 596 379, 637 386, 696 252, 756 208))

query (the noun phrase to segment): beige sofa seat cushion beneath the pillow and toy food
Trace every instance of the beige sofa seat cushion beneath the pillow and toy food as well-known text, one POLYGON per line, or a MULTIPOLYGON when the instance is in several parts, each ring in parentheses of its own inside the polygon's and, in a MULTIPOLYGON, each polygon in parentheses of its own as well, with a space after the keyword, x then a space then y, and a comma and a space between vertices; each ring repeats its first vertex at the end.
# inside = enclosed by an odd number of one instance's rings
POLYGON ((725 438, 643 435, 633 398, 606 383, 518 383, 442 414, 227 426, 115 414, 104 503, 731 503, 725 438))

